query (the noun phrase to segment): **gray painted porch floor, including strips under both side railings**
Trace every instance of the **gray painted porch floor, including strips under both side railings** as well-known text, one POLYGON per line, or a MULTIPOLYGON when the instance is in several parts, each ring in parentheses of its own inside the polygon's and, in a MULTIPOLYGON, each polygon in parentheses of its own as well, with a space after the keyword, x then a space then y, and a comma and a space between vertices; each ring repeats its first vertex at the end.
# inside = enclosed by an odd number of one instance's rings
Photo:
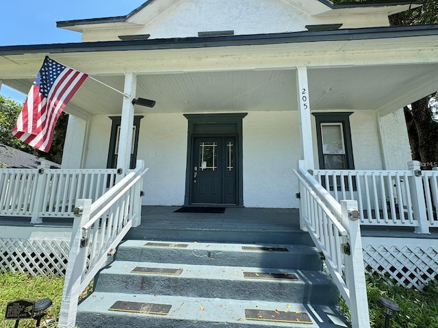
MULTIPOLYGON (((181 206, 143 206, 142 223, 133 231, 142 233, 152 230, 193 230, 199 234, 222 230, 229 233, 264 231, 272 233, 299 232, 298 208, 227 208, 222 214, 175 213, 181 206)), ((43 223, 31 224, 27 217, 0 217, 0 226, 35 226, 70 228, 71 218, 44 218, 43 223)), ((413 228, 389 226, 361 226, 363 236, 394 238, 438 239, 438 228, 430 234, 415 234, 413 228)))

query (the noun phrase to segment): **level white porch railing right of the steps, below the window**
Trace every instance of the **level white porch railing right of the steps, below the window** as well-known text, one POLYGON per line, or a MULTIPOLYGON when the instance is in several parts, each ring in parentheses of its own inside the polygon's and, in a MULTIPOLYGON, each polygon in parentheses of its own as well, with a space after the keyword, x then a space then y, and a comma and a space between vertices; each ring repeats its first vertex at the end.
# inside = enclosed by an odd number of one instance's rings
POLYGON ((315 179, 337 200, 357 200, 362 225, 413 227, 428 234, 438 226, 438 171, 315 169, 315 179))

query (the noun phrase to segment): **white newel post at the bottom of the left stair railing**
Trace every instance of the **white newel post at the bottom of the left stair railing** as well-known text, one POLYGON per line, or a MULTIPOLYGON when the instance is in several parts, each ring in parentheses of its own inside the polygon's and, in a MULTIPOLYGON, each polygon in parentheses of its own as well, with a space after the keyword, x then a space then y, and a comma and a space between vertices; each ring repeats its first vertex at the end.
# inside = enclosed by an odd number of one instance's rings
POLYGON ((90 220, 90 212, 91 200, 77 200, 58 328, 75 327, 77 302, 83 291, 80 286, 88 254, 88 247, 81 245, 82 227, 90 220))

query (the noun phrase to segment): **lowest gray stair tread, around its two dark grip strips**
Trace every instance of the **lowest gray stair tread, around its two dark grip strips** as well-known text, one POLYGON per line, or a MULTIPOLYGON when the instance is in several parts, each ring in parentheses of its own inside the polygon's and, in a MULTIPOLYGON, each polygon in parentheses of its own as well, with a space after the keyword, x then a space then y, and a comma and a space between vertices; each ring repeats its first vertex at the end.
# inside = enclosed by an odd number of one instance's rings
MULTIPOLYGON (((206 299, 201 297, 172 297, 166 295, 118 294, 94 292, 79 305, 79 313, 94 312, 108 316, 125 316, 126 312, 108 310, 116 301, 158 303, 172 305, 168 315, 136 313, 134 316, 154 316, 163 320, 188 320, 196 323, 242 324, 250 327, 346 327, 342 318, 333 307, 315 304, 281 303, 268 301, 242 301, 234 299, 206 299), (245 309, 270 310, 279 312, 305 312, 311 318, 311 324, 278 323, 270 321, 246 320, 245 309), (331 322, 331 324, 327 324, 331 322), (334 323, 334 324, 333 324, 334 323)), ((80 326, 79 326, 80 327, 80 326)), ((155 327, 155 326, 154 326, 155 327)), ((157 326, 159 327, 159 326, 157 326)), ((164 326, 163 326, 164 327, 164 326)), ((181 325, 180 327, 191 327, 181 325)), ((235 326, 237 327, 237 325, 235 326)))

